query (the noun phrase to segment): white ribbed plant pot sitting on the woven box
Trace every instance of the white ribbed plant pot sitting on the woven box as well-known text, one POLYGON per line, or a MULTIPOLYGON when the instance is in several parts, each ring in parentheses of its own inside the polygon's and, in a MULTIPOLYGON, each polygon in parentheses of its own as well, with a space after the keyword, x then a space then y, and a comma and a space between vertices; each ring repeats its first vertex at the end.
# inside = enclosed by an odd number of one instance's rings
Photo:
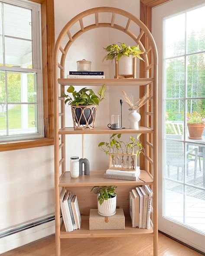
POLYGON ((116 198, 117 196, 108 198, 107 200, 104 200, 102 205, 98 201, 98 214, 102 216, 114 215, 116 213, 116 198))

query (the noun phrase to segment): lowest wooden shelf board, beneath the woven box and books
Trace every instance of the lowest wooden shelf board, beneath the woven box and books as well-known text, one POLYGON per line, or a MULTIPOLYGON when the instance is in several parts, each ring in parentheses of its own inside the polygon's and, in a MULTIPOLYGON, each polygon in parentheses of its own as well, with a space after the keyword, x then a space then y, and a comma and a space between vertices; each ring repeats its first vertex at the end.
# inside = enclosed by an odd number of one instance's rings
POLYGON ((130 217, 125 216, 125 229, 89 230, 89 216, 81 216, 81 229, 66 232, 62 226, 60 238, 93 238, 93 237, 124 237, 153 236, 153 229, 132 228, 130 217))

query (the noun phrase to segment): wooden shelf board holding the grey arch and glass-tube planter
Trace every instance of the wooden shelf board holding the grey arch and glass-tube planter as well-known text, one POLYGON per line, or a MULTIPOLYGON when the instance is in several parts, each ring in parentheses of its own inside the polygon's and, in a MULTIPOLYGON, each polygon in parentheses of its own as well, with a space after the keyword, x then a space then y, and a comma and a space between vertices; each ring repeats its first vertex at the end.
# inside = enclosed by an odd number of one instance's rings
POLYGON ((63 173, 59 186, 68 186, 68 187, 78 187, 78 186, 140 186, 140 185, 150 185, 153 184, 153 179, 145 171, 141 170, 139 178, 144 180, 145 183, 141 180, 132 181, 132 180, 115 180, 115 179, 105 179, 103 174, 105 171, 91 171, 90 175, 82 175, 76 179, 72 179, 70 172, 63 173))

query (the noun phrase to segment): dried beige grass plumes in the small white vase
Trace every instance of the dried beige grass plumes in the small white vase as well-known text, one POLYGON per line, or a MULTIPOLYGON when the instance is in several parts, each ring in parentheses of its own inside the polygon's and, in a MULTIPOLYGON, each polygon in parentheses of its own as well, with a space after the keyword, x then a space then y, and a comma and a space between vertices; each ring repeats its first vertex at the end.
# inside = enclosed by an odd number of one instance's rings
POLYGON ((140 107, 144 106, 147 100, 152 97, 152 90, 146 91, 142 98, 134 103, 133 95, 128 96, 127 93, 122 90, 124 101, 130 106, 129 110, 138 110, 140 107))

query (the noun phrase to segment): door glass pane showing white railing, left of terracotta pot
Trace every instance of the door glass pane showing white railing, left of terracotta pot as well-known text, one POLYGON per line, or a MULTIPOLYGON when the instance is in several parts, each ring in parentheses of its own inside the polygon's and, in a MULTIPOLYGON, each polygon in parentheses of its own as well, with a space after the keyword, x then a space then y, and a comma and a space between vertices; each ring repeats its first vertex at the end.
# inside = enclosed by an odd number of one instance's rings
POLYGON ((184 101, 166 100, 166 138, 183 140, 184 101))

